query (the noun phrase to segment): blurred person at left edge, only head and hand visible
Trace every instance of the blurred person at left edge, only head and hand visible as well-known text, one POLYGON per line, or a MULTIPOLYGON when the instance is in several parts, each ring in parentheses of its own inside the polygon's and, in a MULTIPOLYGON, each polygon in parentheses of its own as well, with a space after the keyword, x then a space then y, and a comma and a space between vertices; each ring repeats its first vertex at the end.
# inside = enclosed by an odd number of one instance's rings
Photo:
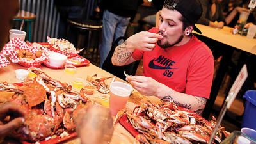
MULTIPOLYGON (((3 49, 4 44, 8 42, 10 24, 18 12, 18 0, 0 0, 0 51, 3 49)), ((0 143, 4 136, 12 133, 23 124, 24 114, 24 111, 15 106, 15 104, 7 103, 0 106, 0 143), (10 120, 6 121, 6 116, 10 116, 10 120)))

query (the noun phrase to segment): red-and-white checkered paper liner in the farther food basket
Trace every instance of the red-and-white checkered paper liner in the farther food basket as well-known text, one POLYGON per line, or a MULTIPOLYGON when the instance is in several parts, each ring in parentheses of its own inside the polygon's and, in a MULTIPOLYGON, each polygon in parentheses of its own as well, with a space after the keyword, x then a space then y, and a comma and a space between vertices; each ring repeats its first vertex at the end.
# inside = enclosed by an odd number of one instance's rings
MULTIPOLYGON (((47 42, 49 42, 49 44, 52 46, 51 49, 54 52, 58 52, 66 56, 76 56, 80 52, 80 51, 77 51, 75 48, 70 50, 70 52, 61 51, 60 49, 58 49, 58 43, 61 42, 61 40, 64 40, 64 39, 50 38, 49 36, 47 36, 47 42)), ((68 40, 65 40, 65 41, 67 41, 66 42, 67 45, 72 45, 70 42, 68 42, 68 40)))

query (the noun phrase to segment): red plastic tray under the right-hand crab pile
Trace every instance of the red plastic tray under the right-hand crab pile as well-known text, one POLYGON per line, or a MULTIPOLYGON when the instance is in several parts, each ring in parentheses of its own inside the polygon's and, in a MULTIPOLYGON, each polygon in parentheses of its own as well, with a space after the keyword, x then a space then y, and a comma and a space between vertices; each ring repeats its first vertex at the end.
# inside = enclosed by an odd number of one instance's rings
MULTIPOLYGON (((177 107, 177 108, 182 111, 188 111, 188 112, 194 113, 193 111, 186 108, 182 108, 182 107, 177 107)), ((196 113, 195 113, 195 116, 198 116, 198 118, 202 118, 202 116, 197 115, 196 113)), ((206 123, 210 123, 208 120, 205 120, 204 118, 202 118, 202 120, 204 120, 206 123)), ((126 115, 121 116, 121 118, 119 119, 119 122, 127 131, 129 131, 132 134, 132 136, 136 137, 138 134, 140 134, 136 129, 132 127, 126 115)))

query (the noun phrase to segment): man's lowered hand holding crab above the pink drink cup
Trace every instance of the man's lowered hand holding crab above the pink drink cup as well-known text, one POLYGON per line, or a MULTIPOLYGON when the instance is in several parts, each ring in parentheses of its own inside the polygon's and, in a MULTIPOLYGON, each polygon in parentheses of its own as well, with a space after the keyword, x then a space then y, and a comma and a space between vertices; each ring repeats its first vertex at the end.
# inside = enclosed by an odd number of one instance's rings
POLYGON ((151 77, 145 76, 127 76, 126 80, 132 84, 133 88, 142 95, 156 95, 157 88, 161 85, 151 77))

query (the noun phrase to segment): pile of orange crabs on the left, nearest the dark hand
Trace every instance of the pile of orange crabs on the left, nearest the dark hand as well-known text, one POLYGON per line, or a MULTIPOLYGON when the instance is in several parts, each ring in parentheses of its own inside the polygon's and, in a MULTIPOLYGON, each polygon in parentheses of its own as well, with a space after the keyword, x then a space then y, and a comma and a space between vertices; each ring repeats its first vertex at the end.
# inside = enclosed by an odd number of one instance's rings
POLYGON ((45 140, 63 132, 72 132, 80 109, 92 102, 84 94, 72 91, 72 86, 52 79, 42 71, 22 86, 0 83, 0 103, 12 102, 26 111, 25 122, 17 131, 27 141, 45 140))

